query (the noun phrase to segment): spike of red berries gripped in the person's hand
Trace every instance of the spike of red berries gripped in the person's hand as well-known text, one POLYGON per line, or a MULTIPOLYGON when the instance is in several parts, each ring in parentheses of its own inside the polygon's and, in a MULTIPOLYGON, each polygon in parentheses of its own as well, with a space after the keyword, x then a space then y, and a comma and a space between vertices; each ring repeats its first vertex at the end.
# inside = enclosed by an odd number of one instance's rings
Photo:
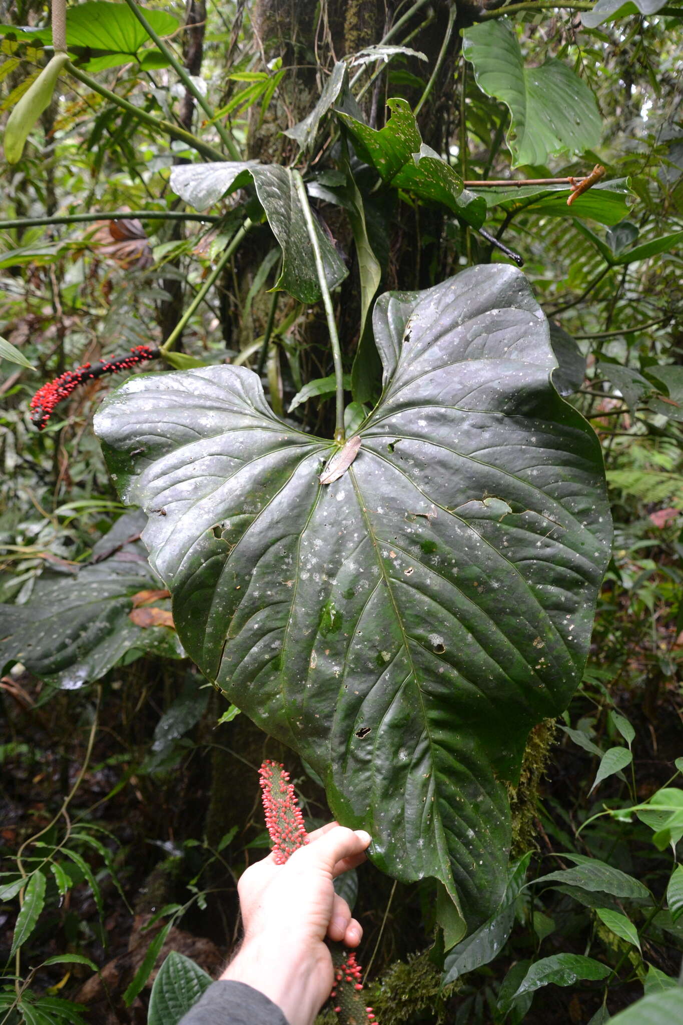
MULTIPOLYGON (((265 824, 272 843, 272 853, 279 865, 284 865, 290 855, 308 843, 301 809, 296 799, 290 774, 279 762, 264 762, 259 770, 265 824)), ((360 966, 354 953, 348 953, 341 943, 328 941, 335 966, 335 981, 331 998, 335 1011, 345 1025, 374 1023, 372 1008, 364 1008, 358 992, 362 989, 360 966)))

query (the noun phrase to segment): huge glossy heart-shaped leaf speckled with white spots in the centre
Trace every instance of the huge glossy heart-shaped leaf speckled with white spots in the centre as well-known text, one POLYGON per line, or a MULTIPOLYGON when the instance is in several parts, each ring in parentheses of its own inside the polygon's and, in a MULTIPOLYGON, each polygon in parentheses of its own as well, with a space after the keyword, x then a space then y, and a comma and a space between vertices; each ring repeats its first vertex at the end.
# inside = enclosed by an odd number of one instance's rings
POLYGON ((581 679, 610 546, 600 448, 515 269, 383 295, 373 324, 382 399, 330 485, 339 450, 243 367, 137 375, 95 429, 202 671, 313 767, 377 864, 439 879, 474 928, 506 885, 505 781, 581 679))

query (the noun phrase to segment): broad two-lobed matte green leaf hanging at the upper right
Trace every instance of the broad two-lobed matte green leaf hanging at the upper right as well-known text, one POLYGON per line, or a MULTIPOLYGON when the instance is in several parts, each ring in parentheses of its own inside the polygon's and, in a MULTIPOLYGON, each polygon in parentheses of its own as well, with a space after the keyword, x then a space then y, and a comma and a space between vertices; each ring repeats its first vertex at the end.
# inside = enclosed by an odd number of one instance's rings
POLYGON ((463 53, 474 66, 479 88, 510 111, 507 142, 513 167, 545 164, 553 154, 598 146, 601 121, 595 96, 561 60, 526 67, 516 35, 502 20, 465 29, 463 53))

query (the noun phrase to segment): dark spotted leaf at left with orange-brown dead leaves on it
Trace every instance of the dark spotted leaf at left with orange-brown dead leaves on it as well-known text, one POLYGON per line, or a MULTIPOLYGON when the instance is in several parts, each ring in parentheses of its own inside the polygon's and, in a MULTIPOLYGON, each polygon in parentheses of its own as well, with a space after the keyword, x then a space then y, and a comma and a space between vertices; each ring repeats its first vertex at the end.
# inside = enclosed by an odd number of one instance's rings
MULTIPOLYGON (((20 661, 41 680, 74 690, 99 680, 127 652, 181 658, 175 630, 137 626, 129 618, 133 596, 161 586, 144 546, 134 539, 144 522, 139 514, 121 517, 93 549, 98 559, 109 546, 106 561, 82 566, 75 577, 46 570, 30 602, 0 606, 0 665, 20 661)), ((170 603, 162 599, 155 606, 169 610, 170 603)))

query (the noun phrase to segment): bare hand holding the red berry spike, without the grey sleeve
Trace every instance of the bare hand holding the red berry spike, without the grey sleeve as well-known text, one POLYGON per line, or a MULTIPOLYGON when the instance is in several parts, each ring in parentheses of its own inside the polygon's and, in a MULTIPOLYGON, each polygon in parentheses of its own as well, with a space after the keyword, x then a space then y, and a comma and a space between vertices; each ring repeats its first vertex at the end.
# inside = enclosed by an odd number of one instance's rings
POLYGON ((311 1025, 334 980, 326 936, 356 947, 362 936, 332 880, 365 860, 370 836, 331 822, 284 865, 272 855, 238 885, 245 938, 221 980, 244 982, 281 1008, 290 1025, 311 1025))

